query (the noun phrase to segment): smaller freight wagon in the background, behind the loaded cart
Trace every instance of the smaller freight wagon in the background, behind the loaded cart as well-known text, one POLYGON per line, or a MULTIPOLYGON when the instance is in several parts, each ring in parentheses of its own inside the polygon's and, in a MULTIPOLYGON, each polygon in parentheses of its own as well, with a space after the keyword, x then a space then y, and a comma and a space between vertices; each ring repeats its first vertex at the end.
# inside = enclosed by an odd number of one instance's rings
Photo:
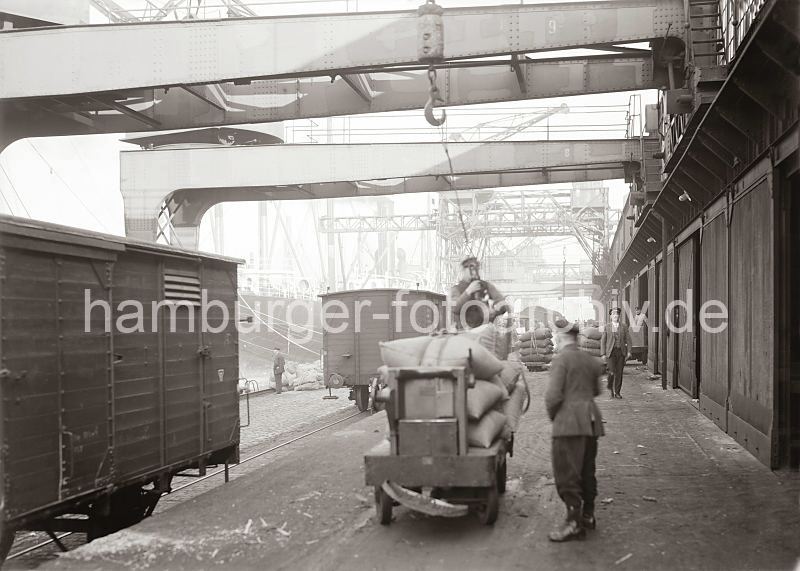
POLYGON ((381 361, 380 341, 417 337, 446 326, 446 296, 423 290, 361 289, 320 296, 322 366, 329 387, 350 387, 361 411, 381 361))

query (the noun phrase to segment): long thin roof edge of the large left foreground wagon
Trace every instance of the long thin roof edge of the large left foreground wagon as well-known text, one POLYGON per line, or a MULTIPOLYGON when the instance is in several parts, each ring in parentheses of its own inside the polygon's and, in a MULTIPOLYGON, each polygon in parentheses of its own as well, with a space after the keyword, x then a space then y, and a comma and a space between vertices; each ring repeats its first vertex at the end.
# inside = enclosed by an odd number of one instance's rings
MULTIPOLYGON (((124 236, 103 234, 91 230, 84 230, 82 228, 62 226, 60 224, 31 220, 29 218, 8 216, 6 214, 0 214, 0 234, 13 234, 16 236, 98 248, 112 252, 124 252, 126 250, 146 250, 165 255, 179 255, 182 257, 192 256, 209 260, 230 262, 234 264, 244 263, 244 260, 238 258, 230 258, 227 256, 197 252, 194 250, 185 250, 173 246, 153 244, 151 242, 134 240, 124 236)), ((0 240, 0 246, 2 246, 2 240, 0 240)))

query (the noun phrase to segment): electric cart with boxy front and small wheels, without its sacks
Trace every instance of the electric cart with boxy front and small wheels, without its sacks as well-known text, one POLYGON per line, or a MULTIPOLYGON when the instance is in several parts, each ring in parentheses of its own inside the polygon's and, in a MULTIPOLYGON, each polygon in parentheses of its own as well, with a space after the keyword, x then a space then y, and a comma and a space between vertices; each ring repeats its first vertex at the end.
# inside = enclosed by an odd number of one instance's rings
POLYGON ((364 457, 381 524, 391 522, 396 504, 444 517, 473 510, 487 525, 497 519, 513 434, 504 431, 489 448, 468 445, 467 389, 474 384, 463 367, 390 368, 385 386, 373 391, 389 420, 388 439, 364 457))

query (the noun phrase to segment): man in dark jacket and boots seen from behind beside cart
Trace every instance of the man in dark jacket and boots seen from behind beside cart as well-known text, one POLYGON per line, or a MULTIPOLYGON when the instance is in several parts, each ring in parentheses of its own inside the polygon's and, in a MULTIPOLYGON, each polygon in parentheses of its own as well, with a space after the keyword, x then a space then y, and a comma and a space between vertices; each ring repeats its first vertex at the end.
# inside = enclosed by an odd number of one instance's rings
POLYGON ((603 420, 594 397, 600 393, 603 367, 596 357, 578 349, 578 326, 556 323, 559 353, 550 365, 545 405, 553 421, 553 477, 567 506, 564 524, 550 533, 551 541, 581 539, 595 528, 597 497, 595 459, 603 420))

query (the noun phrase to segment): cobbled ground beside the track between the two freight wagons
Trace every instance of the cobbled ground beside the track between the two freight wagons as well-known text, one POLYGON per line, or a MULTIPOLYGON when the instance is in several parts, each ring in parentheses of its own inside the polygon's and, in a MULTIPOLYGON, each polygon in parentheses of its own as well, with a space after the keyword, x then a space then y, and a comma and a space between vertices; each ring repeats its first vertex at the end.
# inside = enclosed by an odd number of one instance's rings
POLYGON ((250 396, 250 425, 247 424, 247 404, 242 398, 239 417, 242 419, 240 433, 242 452, 285 432, 302 427, 325 416, 342 410, 358 412, 354 401, 348 400, 350 389, 336 389, 332 394, 338 399, 323 399, 327 390, 288 391, 281 394, 261 393, 250 396))

